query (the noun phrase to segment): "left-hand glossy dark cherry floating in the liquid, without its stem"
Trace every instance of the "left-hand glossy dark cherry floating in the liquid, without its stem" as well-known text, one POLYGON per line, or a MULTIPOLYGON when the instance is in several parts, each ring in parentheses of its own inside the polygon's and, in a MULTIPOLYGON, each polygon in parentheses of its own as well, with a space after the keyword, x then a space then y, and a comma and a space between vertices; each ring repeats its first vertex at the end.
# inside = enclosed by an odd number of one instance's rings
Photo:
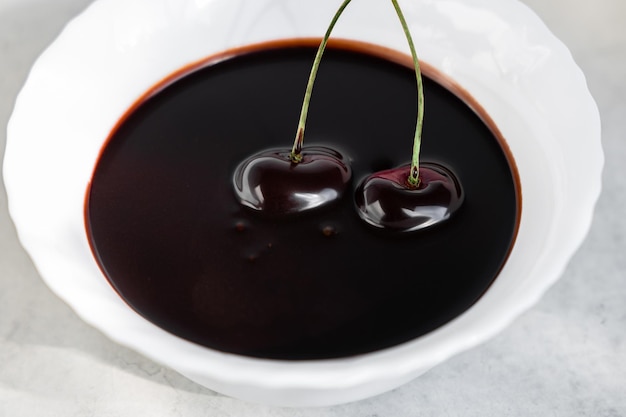
POLYGON ((339 200, 351 173, 344 156, 330 148, 304 148, 297 163, 289 150, 273 149, 243 161, 233 184, 244 206, 269 216, 291 215, 339 200))

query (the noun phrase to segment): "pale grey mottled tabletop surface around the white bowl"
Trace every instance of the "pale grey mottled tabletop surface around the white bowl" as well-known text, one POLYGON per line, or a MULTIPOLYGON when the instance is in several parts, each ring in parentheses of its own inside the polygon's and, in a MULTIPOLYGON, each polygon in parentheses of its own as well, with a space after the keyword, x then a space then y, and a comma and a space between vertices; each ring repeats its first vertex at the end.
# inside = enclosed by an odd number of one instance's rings
MULTIPOLYGON (((0 159, 29 67, 88 3, 0 0, 0 159)), ((562 279, 507 330, 365 401, 302 410, 248 404, 83 323, 20 247, 2 188, 0 416, 626 416, 626 2, 525 3, 588 77, 602 115, 606 168, 587 240, 562 279)))

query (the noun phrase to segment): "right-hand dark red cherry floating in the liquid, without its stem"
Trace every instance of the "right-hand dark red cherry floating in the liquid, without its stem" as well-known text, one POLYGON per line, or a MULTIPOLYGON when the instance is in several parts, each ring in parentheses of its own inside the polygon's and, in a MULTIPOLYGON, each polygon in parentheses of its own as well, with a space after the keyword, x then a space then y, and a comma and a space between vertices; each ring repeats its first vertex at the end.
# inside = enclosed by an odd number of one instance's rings
POLYGON ((356 188, 359 216, 368 224, 396 232, 414 232, 448 220, 463 202, 463 190, 448 168, 422 163, 420 181, 409 182, 411 165, 380 171, 356 188))

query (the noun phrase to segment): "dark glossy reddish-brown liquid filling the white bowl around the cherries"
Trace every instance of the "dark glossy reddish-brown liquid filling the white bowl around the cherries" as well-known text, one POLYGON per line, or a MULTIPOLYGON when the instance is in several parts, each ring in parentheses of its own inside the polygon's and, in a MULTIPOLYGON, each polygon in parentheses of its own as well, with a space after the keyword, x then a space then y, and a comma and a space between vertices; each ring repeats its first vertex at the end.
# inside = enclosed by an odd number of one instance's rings
POLYGON ((114 132, 87 202, 94 253, 113 287, 169 332, 243 355, 356 355, 423 335, 467 310, 505 261, 518 222, 514 175, 489 128, 425 80, 422 157, 453 167, 465 201, 442 225, 380 234, 354 186, 410 158, 415 77, 327 50, 306 145, 351 158, 346 198, 286 219, 255 215, 237 165, 289 147, 315 48, 242 53, 145 100, 114 132))

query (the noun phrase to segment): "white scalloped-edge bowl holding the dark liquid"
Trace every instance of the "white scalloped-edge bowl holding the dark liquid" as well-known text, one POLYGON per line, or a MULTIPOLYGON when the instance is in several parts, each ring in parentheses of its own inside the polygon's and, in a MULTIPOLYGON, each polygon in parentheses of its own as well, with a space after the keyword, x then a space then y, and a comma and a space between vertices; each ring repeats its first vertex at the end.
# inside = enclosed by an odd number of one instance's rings
MULTIPOLYGON (((412 0, 421 59, 464 87, 503 133, 521 178, 519 234, 495 283, 437 330, 345 359, 278 361, 214 351, 132 311, 101 274, 84 198, 118 119, 175 70, 227 49, 320 36, 338 0, 99 0, 41 55, 8 127, 4 178, 22 244, 45 282, 110 338, 218 392, 309 406, 392 389, 502 330, 553 284, 600 192, 600 122, 568 50, 515 0, 412 0)), ((407 51, 387 1, 351 4, 334 36, 407 51)))

